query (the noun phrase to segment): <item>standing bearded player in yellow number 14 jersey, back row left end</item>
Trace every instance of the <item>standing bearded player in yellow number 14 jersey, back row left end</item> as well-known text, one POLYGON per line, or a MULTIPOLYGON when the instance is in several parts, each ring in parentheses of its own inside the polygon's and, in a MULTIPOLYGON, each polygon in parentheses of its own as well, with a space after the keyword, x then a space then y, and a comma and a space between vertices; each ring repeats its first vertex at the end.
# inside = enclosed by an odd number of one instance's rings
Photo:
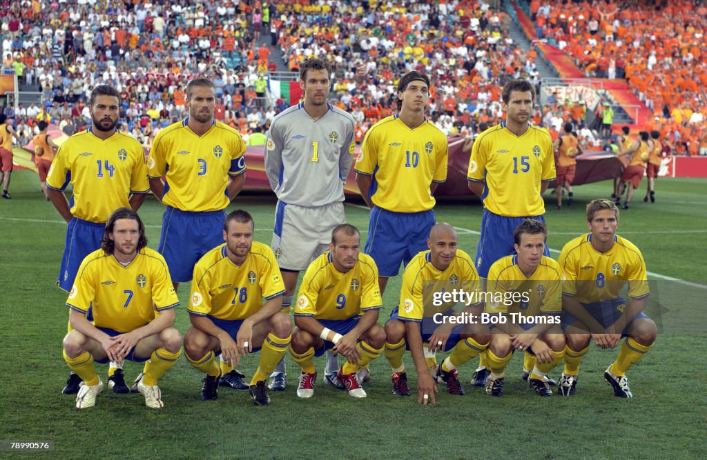
MULTIPOLYGON (((90 127, 66 139, 47 174, 47 196, 69 224, 57 278, 57 285, 66 292, 74 285, 83 259, 101 247, 110 214, 124 207, 137 211, 150 188, 142 146, 115 129, 119 106, 120 95, 115 88, 93 88, 88 100, 90 127), (71 205, 63 193, 69 182, 74 190, 71 205)), ((108 376, 113 391, 129 391, 122 369, 113 362, 108 376)), ((81 379, 71 374, 64 394, 77 393, 79 384, 81 379)))

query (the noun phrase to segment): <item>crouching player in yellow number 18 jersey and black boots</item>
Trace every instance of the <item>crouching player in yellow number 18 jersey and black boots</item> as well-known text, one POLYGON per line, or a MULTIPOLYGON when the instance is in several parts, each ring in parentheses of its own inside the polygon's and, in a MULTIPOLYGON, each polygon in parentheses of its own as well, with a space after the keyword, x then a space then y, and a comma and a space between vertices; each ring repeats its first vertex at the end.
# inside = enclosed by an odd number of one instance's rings
POLYGON ((281 312, 285 285, 272 249, 253 241, 254 228, 249 213, 229 213, 223 225, 225 243, 194 266, 192 327, 185 334, 184 347, 187 360, 206 374, 201 388, 204 401, 218 398, 221 370, 216 355, 238 365, 241 356, 262 348, 250 396, 256 406, 268 406, 265 379, 290 345, 290 318, 281 312))

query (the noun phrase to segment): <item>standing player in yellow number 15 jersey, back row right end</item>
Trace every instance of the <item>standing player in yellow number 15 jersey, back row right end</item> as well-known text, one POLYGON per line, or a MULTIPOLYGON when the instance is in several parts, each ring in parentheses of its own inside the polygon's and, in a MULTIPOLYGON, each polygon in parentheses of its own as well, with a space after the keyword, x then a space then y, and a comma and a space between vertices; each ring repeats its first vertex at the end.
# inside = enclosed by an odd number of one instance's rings
MULTIPOLYGON (((506 121, 479 134, 472 146, 469 189, 484 202, 476 256, 481 278, 489 276, 493 262, 515 253, 513 232, 523 220, 545 222, 542 194, 556 178, 555 161, 549 133, 530 124, 534 98, 529 81, 506 83, 501 92, 506 121)), ((543 254, 550 255, 547 247, 543 254)), ((532 370, 532 355, 526 358, 523 367, 532 370)), ((488 375, 482 354, 474 386, 483 387, 488 375)))

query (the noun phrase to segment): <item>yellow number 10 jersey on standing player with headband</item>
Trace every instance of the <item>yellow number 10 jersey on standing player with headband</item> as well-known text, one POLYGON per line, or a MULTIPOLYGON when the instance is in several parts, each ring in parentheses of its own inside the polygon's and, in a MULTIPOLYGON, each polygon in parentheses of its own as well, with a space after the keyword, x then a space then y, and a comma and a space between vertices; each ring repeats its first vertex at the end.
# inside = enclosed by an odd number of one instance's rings
POLYGON ((354 170, 373 176, 370 199, 376 206, 398 213, 428 211, 435 206, 430 184, 447 180, 447 151, 447 136, 432 122, 410 129, 395 114, 368 130, 354 170))

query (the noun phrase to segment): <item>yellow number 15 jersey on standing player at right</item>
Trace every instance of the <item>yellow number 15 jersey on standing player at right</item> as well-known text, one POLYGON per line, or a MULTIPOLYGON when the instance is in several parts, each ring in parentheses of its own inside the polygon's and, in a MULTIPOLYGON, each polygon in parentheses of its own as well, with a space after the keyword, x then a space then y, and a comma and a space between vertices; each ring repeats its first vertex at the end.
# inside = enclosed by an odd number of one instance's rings
POLYGON ((506 122, 486 129, 474 141, 467 179, 484 182, 484 206, 498 216, 542 216, 541 182, 556 179, 552 139, 531 124, 520 137, 506 122))

